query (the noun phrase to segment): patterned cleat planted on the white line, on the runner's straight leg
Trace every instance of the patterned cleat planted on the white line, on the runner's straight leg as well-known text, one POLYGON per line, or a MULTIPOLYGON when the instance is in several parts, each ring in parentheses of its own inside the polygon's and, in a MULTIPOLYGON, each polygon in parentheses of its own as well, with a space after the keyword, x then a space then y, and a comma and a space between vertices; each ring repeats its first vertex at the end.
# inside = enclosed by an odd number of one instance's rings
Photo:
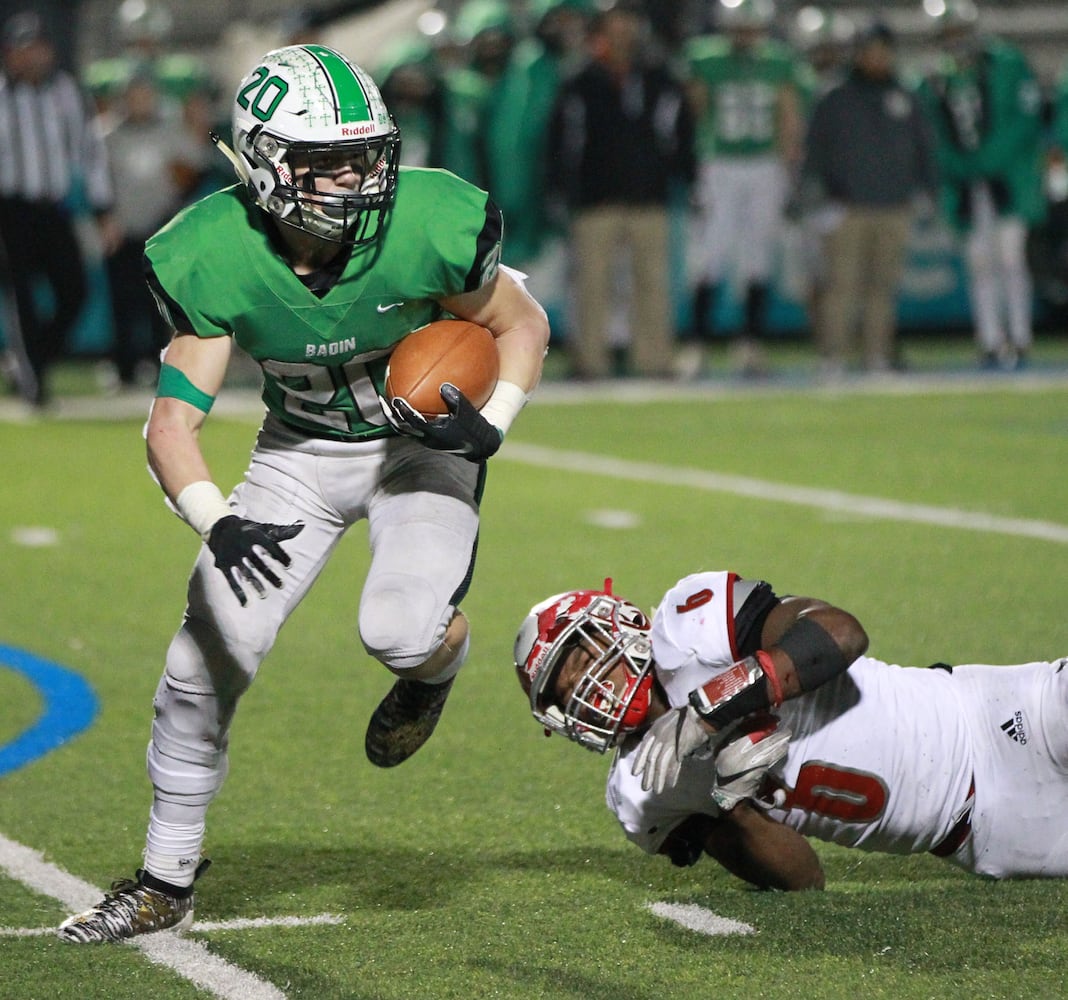
MULTIPOLYGON (((211 862, 202 861, 199 877, 211 862)), ((143 870, 136 878, 121 878, 111 884, 104 900, 83 913, 68 917, 56 933, 75 944, 123 941, 141 934, 175 928, 185 931, 193 919, 193 889, 178 889, 143 870)))

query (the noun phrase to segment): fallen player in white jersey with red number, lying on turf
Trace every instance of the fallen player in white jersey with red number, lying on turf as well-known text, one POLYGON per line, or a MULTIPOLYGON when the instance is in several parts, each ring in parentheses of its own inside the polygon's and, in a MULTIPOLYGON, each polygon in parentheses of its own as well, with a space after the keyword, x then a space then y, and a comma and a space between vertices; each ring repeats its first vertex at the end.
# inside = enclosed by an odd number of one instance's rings
POLYGON ((516 669, 547 730, 617 748, 609 808, 676 864, 708 853, 755 885, 821 887, 797 831, 1068 875, 1068 660, 904 668, 866 644, 841 609, 698 573, 651 623, 608 589, 543 601, 516 669))

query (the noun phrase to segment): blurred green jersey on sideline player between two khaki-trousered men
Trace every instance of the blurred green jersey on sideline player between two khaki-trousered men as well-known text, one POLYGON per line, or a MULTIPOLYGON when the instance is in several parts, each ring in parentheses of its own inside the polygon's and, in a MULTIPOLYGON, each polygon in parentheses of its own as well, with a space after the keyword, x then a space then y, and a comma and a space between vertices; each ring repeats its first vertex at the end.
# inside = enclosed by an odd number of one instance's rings
POLYGON ((779 95, 796 87, 799 69, 789 50, 760 42, 748 51, 724 37, 693 38, 685 57, 690 76, 708 94, 697 122, 697 154, 758 156, 773 153, 779 132, 779 95))

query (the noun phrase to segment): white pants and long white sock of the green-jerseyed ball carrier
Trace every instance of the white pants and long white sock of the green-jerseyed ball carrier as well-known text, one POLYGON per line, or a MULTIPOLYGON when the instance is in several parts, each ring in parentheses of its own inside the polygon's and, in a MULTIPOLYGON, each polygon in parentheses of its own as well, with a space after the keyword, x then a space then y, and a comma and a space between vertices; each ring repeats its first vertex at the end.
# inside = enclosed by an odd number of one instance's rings
POLYGON ((247 607, 208 547, 201 548, 154 702, 147 765, 155 799, 145 855, 152 874, 191 882, 204 816, 225 778, 237 701, 358 520, 368 522, 371 548, 358 616, 365 650, 403 673, 440 646, 470 583, 484 468, 408 438, 319 440, 267 418, 231 505, 250 520, 303 521, 304 529, 282 543, 292 559, 287 568, 274 566, 282 588, 267 584, 261 599, 246 583, 247 607))

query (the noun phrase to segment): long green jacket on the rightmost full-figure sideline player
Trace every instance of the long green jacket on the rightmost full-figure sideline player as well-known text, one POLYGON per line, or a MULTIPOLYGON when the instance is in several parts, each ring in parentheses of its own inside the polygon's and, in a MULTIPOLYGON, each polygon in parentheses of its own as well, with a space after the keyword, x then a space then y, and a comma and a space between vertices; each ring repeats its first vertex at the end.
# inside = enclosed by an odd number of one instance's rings
POLYGON ((944 60, 920 95, 934 129, 949 221, 968 228, 968 190, 986 181, 1000 213, 1038 222, 1046 207, 1041 93, 1023 54, 986 40, 973 66, 944 60))

